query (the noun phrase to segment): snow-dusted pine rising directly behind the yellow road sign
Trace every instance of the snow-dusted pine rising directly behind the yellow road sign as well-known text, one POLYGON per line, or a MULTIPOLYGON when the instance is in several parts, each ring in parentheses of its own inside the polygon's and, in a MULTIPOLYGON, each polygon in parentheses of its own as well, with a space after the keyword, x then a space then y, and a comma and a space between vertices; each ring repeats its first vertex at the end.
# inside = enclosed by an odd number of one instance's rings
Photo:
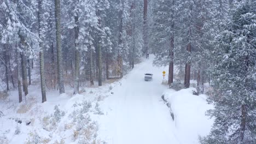
POLYGON ((168 85, 173 82, 173 58, 174 58, 174 39, 177 32, 174 30, 177 26, 177 1, 154 1, 153 9, 153 35, 155 48, 154 64, 168 64, 168 85))

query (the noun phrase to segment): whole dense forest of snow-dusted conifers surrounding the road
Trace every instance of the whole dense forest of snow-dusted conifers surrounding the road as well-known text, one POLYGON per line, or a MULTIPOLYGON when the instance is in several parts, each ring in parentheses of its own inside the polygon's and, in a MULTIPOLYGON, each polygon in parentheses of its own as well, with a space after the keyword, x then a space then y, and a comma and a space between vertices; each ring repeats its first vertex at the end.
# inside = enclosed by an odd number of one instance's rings
POLYGON ((0 39, 1 87, 20 102, 33 83, 42 103, 50 89, 102 86, 149 53, 170 88, 211 86, 201 143, 256 142, 254 0, 0 0, 0 39))

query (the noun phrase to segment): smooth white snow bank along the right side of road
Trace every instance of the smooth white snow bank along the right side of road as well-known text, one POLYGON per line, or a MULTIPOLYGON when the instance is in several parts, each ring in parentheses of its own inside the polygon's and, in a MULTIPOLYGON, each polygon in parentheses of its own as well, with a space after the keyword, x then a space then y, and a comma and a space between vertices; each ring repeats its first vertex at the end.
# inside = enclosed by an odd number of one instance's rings
POLYGON ((167 89, 163 94, 170 103, 174 113, 176 136, 180 143, 199 143, 199 136, 210 133, 213 119, 205 116, 205 112, 213 106, 207 104, 206 95, 193 95, 195 88, 174 91, 167 89))

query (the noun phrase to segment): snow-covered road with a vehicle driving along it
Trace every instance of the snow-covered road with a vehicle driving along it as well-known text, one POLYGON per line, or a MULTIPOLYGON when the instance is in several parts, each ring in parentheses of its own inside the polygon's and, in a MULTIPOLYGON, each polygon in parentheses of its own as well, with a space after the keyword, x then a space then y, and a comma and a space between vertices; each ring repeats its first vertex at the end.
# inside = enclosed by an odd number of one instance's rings
POLYGON ((153 67, 153 56, 136 67, 113 88, 114 94, 102 105, 108 109, 104 124, 108 143, 179 143, 172 129, 172 118, 161 94, 162 71, 153 67), (152 73, 153 81, 144 81, 152 73))

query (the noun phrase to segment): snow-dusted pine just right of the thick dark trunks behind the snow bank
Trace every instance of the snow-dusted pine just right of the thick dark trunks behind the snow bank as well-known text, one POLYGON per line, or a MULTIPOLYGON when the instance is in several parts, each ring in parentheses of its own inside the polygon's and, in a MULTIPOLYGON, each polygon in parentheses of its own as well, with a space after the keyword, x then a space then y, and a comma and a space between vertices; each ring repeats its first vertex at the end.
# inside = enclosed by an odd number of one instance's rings
MULTIPOLYGON (((209 77, 210 65, 213 62, 211 57, 212 45, 212 20, 216 16, 216 8, 212 0, 196 1, 196 34, 195 49, 193 53, 194 73, 197 73, 197 94, 203 93, 204 83, 209 77)), ((194 76, 195 78, 195 76, 194 76)))

